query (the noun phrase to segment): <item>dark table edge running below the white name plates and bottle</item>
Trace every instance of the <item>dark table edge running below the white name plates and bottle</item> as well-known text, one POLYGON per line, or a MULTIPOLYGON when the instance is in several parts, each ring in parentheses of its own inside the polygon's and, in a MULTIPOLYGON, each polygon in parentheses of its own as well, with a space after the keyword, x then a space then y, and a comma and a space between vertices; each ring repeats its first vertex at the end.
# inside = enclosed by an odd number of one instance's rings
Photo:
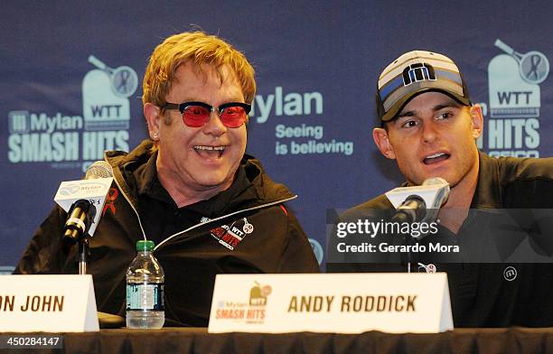
MULTIPOLYGON (((3 336, 48 333, 2 333, 3 336)), ((218 333, 205 328, 61 333, 69 353, 551 353, 553 328, 456 329, 437 334, 218 333)), ((0 352, 22 353, 22 349, 0 352)))

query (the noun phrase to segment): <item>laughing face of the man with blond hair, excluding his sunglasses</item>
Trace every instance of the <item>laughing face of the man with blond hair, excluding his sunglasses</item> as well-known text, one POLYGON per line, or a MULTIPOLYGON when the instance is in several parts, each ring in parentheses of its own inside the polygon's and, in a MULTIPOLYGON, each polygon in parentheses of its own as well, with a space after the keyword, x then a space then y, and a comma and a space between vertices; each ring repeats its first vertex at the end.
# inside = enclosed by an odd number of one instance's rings
MULTIPOLYGON (((203 64, 199 69, 190 61, 181 65, 165 101, 200 101, 213 107, 244 102, 228 67, 220 68, 220 77, 213 66, 203 64)), ((191 127, 184 125, 178 110, 162 111, 150 103, 144 109, 148 129, 159 147, 158 178, 179 207, 209 199, 230 187, 246 151, 246 125, 223 126, 219 115, 211 112, 203 126, 191 127)))

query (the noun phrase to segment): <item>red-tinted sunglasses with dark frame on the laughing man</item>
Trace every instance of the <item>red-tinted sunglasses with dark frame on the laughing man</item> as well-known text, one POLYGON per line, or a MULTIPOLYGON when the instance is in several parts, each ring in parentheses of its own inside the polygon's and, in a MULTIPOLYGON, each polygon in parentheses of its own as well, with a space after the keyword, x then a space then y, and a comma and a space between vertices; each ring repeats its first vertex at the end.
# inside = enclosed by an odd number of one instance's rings
POLYGON ((204 102, 167 102, 164 109, 178 109, 183 114, 183 122, 186 126, 200 127, 210 120, 211 112, 217 112, 223 126, 238 128, 248 120, 251 105, 242 102, 229 102, 213 107, 204 102))

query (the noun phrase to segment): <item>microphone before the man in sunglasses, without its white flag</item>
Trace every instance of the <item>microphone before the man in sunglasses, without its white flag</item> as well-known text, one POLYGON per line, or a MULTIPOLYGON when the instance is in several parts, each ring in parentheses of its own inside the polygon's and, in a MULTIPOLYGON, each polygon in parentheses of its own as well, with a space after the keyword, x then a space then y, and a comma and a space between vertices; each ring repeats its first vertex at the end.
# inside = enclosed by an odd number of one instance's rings
MULTIPOLYGON (((87 170, 84 180, 113 177, 113 170, 109 163, 97 161, 87 170)), ((68 219, 63 227, 63 238, 76 242, 89 232, 89 228, 96 217, 96 206, 90 200, 76 200, 68 212, 68 219)))

